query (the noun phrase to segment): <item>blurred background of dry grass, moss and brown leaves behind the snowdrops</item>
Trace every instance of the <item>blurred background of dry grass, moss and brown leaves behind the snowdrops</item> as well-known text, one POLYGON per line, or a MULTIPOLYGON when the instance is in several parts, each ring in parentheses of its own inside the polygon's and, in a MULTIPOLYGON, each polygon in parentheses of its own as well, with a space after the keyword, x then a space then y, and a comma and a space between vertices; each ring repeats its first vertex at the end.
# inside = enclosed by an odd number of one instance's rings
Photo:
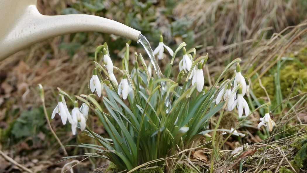
MULTIPOLYGON (((173 50, 186 42, 187 49, 196 48, 196 57, 209 54, 207 84, 215 82, 225 64, 240 57, 255 98, 260 98, 254 106, 271 101, 274 108, 284 99, 307 91, 307 0, 38 0, 37 7, 45 15, 92 14, 124 23, 140 30, 153 49, 161 33, 173 50)), ((95 48, 104 42, 115 66, 121 64, 128 40, 97 32, 50 38, 0 62, 0 141, 12 158, 19 163, 34 158, 48 160, 45 169, 49 170, 63 166, 55 163, 64 154, 46 126, 37 84, 45 88, 49 113, 57 103, 56 87, 75 95, 89 93, 95 48)), ((130 59, 134 59, 134 51, 147 57, 142 46, 133 41, 130 59)), ((177 56, 174 65, 179 62, 180 54, 177 56)), ((159 63, 165 66, 168 62, 165 58, 159 63)), ((278 110, 283 114, 288 109, 278 110)), ((306 117, 305 113, 299 119, 306 117)), ((259 115, 254 118, 257 121, 259 115)), ((95 117, 88 120, 96 133, 103 134, 103 127, 95 122, 95 117)), ((51 123, 64 145, 91 140, 85 135, 72 136, 70 127, 63 126, 59 118, 51 123)), ((70 155, 84 153, 67 149, 70 155)))

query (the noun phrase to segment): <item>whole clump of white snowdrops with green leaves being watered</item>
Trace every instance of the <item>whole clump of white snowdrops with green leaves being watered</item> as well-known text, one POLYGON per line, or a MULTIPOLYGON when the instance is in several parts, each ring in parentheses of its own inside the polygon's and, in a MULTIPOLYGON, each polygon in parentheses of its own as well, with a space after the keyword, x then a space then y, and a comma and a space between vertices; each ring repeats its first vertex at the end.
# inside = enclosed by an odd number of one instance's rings
MULTIPOLYGON (((135 53, 134 66, 130 68, 129 44, 126 44, 122 67, 113 66, 106 43, 98 46, 93 61, 93 76, 89 81, 91 94, 72 98, 59 89, 59 103, 52 112, 52 118, 58 114, 63 124, 68 119, 74 135, 78 133, 76 129, 79 127, 80 131, 94 138, 96 144, 80 144, 79 147, 99 151, 96 157, 110 160, 120 171, 135 171, 143 163, 161 165, 166 157, 180 158, 178 151, 188 149, 193 141, 209 132, 214 132, 212 146, 215 152, 212 158, 218 159, 218 154, 215 154, 219 149, 215 143, 216 132, 226 131, 229 135, 235 132, 233 128, 218 129, 224 110, 233 111, 237 108, 238 111, 233 113, 240 118, 243 113, 245 116, 251 114, 244 99, 250 90, 249 82, 241 74, 241 59, 237 58, 226 66, 214 85, 204 87, 203 69, 208 54, 196 58, 195 48, 186 50, 185 46, 183 42, 173 52, 161 37, 159 46, 153 52, 160 60, 164 58, 166 48, 172 57, 167 76, 162 78, 155 77, 154 70, 146 64, 142 54, 135 53), (180 72, 177 78, 170 78, 173 61, 179 51, 183 52, 179 63, 180 72), (102 64, 98 63, 98 55, 102 55, 102 64), (219 82, 233 65, 236 65, 233 78, 219 82), (119 75, 115 76, 114 71, 119 75), (181 80, 184 80, 183 85, 178 84, 181 80), (164 84, 166 88, 162 87, 164 84), (71 113, 65 97, 74 103, 71 113), (217 113, 220 118, 216 128, 208 129, 209 119, 217 113), (99 117, 110 139, 87 127, 89 115, 99 117)), ((269 116, 260 120, 259 129, 271 124, 269 116)))

